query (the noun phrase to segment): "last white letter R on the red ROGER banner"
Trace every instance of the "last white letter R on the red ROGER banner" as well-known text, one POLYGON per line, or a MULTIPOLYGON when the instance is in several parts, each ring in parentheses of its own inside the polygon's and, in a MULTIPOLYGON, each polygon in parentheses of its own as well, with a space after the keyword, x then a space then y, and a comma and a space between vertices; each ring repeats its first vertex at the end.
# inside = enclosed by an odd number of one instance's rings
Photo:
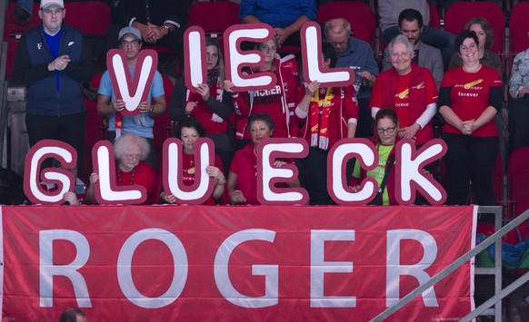
MULTIPOLYGON (((386 253, 386 281, 385 281, 385 305, 391 307, 400 296, 400 277, 413 276, 423 285, 432 278, 424 269, 429 268, 437 257, 437 243, 432 235, 424 230, 418 229, 394 229, 387 233, 386 253), (418 263, 401 264, 401 241, 405 239, 415 240, 423 246, 423 258, 418 263)), ((423 292, 425 307, 439 307, 434 288, 428 288, 423 292)))

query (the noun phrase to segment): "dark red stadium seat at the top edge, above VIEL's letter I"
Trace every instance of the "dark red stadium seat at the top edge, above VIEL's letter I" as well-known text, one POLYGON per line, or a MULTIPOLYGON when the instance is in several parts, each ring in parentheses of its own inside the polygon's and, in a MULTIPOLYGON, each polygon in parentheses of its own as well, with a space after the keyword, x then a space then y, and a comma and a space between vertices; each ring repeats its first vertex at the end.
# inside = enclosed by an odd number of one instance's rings
POLYGON ((239 24, 239 5, 229 1, 195 2, 189 7, 189 25, 198 25, 205 34, 222 36, 232 24, 239 24))

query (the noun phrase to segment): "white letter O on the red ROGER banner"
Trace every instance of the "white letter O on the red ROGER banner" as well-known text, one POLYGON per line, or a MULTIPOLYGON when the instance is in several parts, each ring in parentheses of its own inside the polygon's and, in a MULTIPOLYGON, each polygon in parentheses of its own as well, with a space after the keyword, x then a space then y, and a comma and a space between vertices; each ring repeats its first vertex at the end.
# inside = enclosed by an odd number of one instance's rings
POLYGON ((187 254, 180 239, 165 229, 143 229, 125 240, 117 258, 117 280, 123 294, 138 307, 159 308, 173 303, 180 296, 187 280, 187 254), (175 265, 173 280, 164 294, 158 298, 147 298, 141 294, 132 278, 132 259, 135 249, 147 239, 163 242, 171 251, 175 265))

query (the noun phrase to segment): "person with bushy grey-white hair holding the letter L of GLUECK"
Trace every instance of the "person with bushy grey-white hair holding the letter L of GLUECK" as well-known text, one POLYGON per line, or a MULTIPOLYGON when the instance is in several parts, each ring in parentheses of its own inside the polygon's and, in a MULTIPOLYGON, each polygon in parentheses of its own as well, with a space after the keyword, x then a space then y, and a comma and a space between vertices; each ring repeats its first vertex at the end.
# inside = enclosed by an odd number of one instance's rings
MULTIPOLYGON (((124 134, 115 139, 115 183, 118 186, 140 185, 147 190, 147 199, 144 205, 156 203, 156 190, 158 189, 158 175, 156 171, 145 162, 151 147, 149 142, 141 136, 124 134)), ((99 174, 90 175, 90 185, 86 190, 85 203, 96 204, 95 182, 99 181, 99 174)))

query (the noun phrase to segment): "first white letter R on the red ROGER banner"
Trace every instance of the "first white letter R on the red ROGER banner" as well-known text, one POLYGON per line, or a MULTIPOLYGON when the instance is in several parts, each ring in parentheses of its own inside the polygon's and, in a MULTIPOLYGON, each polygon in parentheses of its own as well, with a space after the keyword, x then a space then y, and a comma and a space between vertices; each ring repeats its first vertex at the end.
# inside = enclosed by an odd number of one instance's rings
POLYGON ((77 306, 92 307, 85 278, 77 271, 90 257, 90 246, 85 236, 75 230, 49 229, 40 231, 38 238, 40 306, 54 306, 54 277, 64 276, 72 282, 77 306), (75 259, 70 264, 54 265, 54 240, 68 240, 75 245, 75 259))

